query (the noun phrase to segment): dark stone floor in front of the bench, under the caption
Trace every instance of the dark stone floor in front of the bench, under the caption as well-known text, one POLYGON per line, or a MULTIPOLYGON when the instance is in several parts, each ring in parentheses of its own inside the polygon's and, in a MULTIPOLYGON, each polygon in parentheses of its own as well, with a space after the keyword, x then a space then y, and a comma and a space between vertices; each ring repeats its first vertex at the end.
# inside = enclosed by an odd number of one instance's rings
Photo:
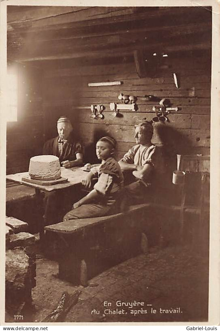
POLYGON ((154 247, 148 255, 127 260, 91 279, 86 288, 58 279, 57 272, 56 262, 38 256, 37 286, 33 289, 38 322, 56 307, 64 291, 71 294, 76 288, 82 293, 65 322, 206 321, 208 318, 208 254, 197 243, 154 247), (134 301, 144 304, 132 308, 119 306, 119 302, 127 305, 134 301), (104 306, 104 302, 109 306, 104 306))

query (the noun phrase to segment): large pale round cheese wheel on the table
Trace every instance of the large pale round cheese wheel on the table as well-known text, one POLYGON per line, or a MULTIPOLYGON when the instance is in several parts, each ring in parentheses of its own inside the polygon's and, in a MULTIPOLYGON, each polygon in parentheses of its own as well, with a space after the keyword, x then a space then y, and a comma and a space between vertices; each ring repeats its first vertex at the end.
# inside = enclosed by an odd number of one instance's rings
POLYGON ((59 158, 54 155, 37 155, 30 159, 29 175, 32 179, 55 180, 61 177, 59 158))

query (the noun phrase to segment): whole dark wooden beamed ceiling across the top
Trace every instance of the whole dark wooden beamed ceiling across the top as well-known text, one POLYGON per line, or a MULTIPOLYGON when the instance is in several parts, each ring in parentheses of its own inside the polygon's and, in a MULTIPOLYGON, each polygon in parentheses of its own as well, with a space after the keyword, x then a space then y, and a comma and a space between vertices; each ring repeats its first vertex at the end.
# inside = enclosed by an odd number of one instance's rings
POLYGON ((129 62, 135 50, 210 52, 211 7, 8 6, 8 60, 129 62))

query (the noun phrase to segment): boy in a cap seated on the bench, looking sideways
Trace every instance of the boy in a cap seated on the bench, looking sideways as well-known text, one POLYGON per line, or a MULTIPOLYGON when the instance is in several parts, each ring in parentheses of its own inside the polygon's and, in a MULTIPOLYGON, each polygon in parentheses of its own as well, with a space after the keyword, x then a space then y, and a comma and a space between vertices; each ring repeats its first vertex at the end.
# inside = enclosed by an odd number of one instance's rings
POLYGON ((93 167, 82 180, 86 188, 91 188, 91 180, 98 178, 94 189, 73 205, 63 221, 79 218, 100 217, 116 211, 116 203, 123 186, 123 175, 119 164, 113 158, 116 142, 113 138, 103 137, 96 144, 96 154, 102 160, 100 166, 93 167))

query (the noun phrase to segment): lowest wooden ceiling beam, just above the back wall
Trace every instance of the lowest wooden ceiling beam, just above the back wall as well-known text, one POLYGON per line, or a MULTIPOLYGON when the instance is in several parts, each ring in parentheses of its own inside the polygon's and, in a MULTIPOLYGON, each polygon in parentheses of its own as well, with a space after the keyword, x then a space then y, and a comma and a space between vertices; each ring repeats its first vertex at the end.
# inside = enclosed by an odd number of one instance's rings
MULTIPOLYGON (((197 44, 201 42, 206 42, 207 44, 211 43, 211 34, 210 30, 204 31, 200 30, 199 32, 195 32, 191 34, 175 34, 173 30, 172 34, 158 34, 158 35, 149 35, 147 39, 144 35, 133 35, 133 38, 127 36, 126 38, 120 35, 116 35, 112 37, 100 37, 96 38, 93 42, 91 40, 86 42, 86 40, 77 40, 77 42, 53 42, 53 43, 38 43, 34 45, 24 45, 18 52, 17 56, 19 58, 33 58, 33 57, 42 57, 42 56, 51 56, 56 54, 63 53, 84 53, 89 51, 102 51, 106 52, 117 51, 120 49, 121 51, 125 50, 134 50, 134 49, 151 49, 153 52, 161 52, 164 51, 167 45, 179 45, 179 44, 197 44), (155 43, 155 40, 157 41, 155 43), (105 47, 103 47, 105 45, 105 47), (31 47, 30 47, 31 46, 31 47)), ((8 54, 14 53, 14 49, 10 49, 10 45, 8 46, 8 54)))

